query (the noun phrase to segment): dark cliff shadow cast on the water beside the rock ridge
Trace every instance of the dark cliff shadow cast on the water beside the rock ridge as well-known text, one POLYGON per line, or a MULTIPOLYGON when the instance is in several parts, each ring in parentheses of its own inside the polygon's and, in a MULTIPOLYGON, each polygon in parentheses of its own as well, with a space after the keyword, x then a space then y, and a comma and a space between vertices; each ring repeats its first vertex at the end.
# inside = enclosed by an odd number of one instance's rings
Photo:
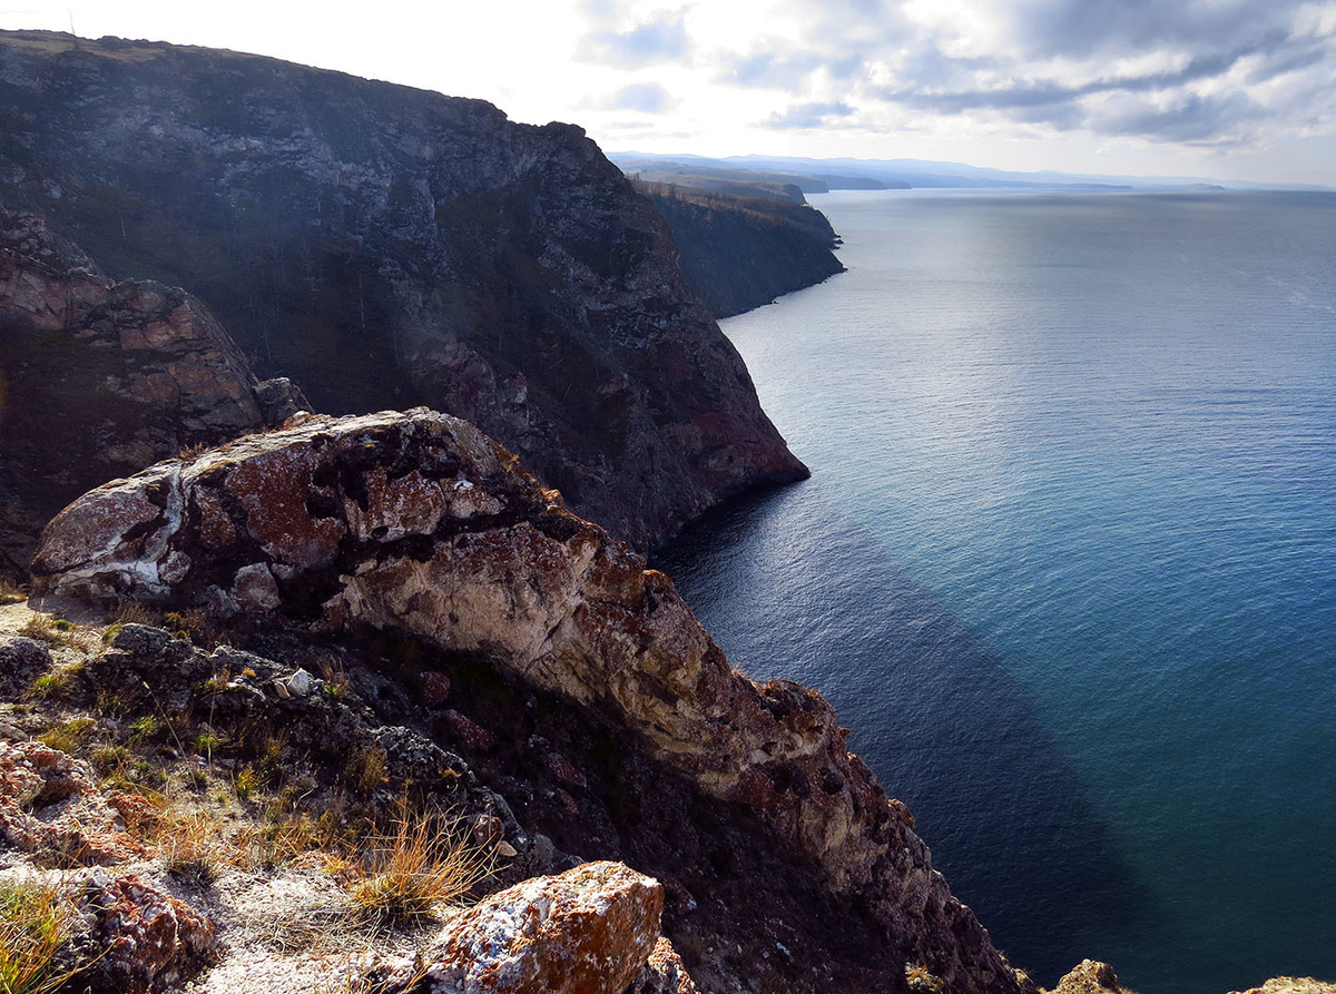
POLYGON ((1013 965, 1051 986, 1098 957, 1101 937, 1153 927, 1025 688, 819 481, 716 509, 652 565, 735 667, 835 705, 850 748, 910 806, 934 866, 1013 965))

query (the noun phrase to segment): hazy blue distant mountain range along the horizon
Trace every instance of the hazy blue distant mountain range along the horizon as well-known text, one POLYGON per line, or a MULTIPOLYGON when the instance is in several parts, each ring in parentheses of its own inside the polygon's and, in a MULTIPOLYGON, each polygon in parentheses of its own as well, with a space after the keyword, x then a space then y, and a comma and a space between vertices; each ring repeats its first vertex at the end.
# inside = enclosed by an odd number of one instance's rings
POLYGON ((904 187, 941 188, 1066 188, 1066 190, 1157 190, 1157 191, 1222 191, 1222 190, 1315 190, 1331 187, 1305 184, 1244 183, 1210 180, 1197 176, 1118 176, 1075 172, 1013 172, 958 162, 922 159, 806 159, 768 155, 732 155, 711 159, 700 155, 647 155, 609 152, 625 172, 640 172, 653 182, 672 182, 673 176, 725 180, 744 176, 752 184, 791 184, 804 194, 827 190, 886 190, 904 187))

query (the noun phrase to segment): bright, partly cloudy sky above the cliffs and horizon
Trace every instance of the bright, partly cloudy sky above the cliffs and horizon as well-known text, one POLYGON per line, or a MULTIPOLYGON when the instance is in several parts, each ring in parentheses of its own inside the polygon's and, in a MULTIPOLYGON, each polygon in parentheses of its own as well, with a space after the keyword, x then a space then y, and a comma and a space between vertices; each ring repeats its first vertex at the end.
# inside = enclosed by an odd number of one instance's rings
POLYGON ((0 28, 257 52, 605 151, 1336 184, 1336 0, 0 0, 0 28))

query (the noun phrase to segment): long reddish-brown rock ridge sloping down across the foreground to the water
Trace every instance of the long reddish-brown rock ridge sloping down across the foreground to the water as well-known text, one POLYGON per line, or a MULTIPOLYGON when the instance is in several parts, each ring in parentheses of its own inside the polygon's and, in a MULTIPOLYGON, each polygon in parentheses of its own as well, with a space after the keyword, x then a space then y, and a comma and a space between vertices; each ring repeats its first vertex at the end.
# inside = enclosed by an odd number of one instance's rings
POLYGON ((306 417, 80 498, 35 589, 418 636, 608 716, 771 826, 950 989, 1022 990, 815 692, 735 673, 672 583, 472 425, 306 417))

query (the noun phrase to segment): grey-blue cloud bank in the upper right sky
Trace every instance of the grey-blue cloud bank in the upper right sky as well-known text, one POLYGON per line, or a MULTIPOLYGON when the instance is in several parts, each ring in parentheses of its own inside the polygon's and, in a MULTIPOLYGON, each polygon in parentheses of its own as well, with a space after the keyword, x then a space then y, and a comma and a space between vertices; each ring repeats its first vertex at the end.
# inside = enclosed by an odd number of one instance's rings
POLYGON ((858 111, 1222 146, 1336 119, 1336 0, 791 0, 780 9, 800 19, 798 31, 712 53, 716 81, 802 100, 770 118, 775 128, 858 111))

